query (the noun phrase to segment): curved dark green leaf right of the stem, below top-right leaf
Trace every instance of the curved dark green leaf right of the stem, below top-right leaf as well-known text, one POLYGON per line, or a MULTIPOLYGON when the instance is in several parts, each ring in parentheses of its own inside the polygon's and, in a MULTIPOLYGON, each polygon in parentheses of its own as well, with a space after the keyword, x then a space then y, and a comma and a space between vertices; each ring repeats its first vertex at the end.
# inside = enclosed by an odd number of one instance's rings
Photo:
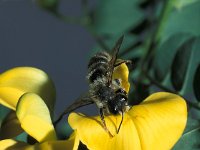
POLYGON ((161 82, 164 78, 166 78, 168 72, 170 71, 172 60, 174 59, 177 49, 189 38, 191 38, 190 34, 175 34, 156 50, 153 62, 155 79, 161 82))

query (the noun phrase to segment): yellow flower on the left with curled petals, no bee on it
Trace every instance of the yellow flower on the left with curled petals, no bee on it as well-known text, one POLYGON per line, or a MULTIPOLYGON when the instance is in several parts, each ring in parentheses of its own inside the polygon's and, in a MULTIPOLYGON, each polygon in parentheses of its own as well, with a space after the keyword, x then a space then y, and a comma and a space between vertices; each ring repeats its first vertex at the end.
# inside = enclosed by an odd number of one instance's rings
POLYGON ((17 67, 0 74, 0 104, 14 110, 1 126, 0 136, 4 140, 0 141, 0 150, 77 149, 79 141, 75 133, 68 140, 57 139, 50 116, 54 101, 53 82, 43 71, 17 67), (29 145, 9 139, 23 131, 39 143, 29 145))

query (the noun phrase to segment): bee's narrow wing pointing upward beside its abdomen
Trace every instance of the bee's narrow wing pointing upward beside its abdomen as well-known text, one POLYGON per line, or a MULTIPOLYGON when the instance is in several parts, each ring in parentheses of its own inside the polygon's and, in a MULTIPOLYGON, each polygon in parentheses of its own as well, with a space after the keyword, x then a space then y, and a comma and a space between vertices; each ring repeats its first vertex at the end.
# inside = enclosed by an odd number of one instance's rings
POLYGON ((114 70, 114 67, 115 67, 115 62, 117 60, 117 56, 118 56, 118 53, 119 53, 119 49, 122 45, 122 41, 124 39, 124 36, 121 36, 119 38, 119 40, 116 42, 114 48, 112 49, 112 58, 109 62, 109 77, 108 77, 108 85, 111 84, 112 82, 112 74, 113 74, 113 70, 114 70))

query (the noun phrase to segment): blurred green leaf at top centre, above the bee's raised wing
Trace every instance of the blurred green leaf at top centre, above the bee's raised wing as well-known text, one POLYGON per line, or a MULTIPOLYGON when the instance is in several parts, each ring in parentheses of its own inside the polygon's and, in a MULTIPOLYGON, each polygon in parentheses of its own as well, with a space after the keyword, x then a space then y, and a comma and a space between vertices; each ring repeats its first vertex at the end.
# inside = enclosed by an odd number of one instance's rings
POLYGON ((99 1, 94 12, 93 29, 99 35, 129 31, 144 18, 138 4, 138 0, 99 1))

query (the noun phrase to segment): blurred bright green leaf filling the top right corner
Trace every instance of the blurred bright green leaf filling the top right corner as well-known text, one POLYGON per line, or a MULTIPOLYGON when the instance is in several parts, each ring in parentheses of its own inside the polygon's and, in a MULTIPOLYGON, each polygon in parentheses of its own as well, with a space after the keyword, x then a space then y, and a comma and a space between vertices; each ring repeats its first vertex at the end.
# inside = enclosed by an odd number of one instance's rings
MULTIPOLYGON (((181 1, 181 0, 180 0, 181 1)), ((190 33, 194 36, 200 35, 200 1, 191 3, 182 9, 171 11, 165 27, 160 33, 162 41, 176 33, 190 33)))

